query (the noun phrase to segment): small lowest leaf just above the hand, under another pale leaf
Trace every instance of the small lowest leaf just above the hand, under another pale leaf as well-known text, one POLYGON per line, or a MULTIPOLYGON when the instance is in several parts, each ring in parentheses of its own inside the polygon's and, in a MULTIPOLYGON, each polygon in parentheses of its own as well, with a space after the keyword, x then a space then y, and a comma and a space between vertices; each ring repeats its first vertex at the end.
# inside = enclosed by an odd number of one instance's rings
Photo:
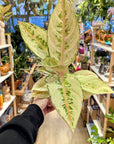
POLYGON ((41 99, 45 99, 45 98, 49 98, 49 93, 48 92, 33 92, 31 97, 37 97, 37 98, 41 98, 41 99))

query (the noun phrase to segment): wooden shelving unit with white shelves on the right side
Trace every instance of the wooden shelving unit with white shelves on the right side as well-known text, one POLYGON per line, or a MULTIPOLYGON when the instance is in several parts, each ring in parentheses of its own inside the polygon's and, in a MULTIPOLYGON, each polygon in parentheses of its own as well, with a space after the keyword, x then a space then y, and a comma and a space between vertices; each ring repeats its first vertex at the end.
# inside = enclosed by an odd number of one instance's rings
MULTIPOLYGON (((112 46, 108 45, 103 45, 100 43, 95 42, 95 31, 93 30, 93 37, 92 37, 92 47, 91 47, 91 71, 95 72, 97 76, 103 80, 104 82, 107 83, 110 87, 114 87, 114 78, 112 77, 112 66, 114 65, 114 38, 112 41, 112 46), (110 52, 111 59, 110 59, 110 70, 109 70, 109 77, 105 77, 103 74, 100 74, 98 71, 98 68, 94 65, 94 49, 101 48, 105 51, 110 52)), ((101 127, 99 126, 99 121, 98 120, 93 120, 93 124, 98 128, 98 134, 99 136, 106 137, 106 130, 107 130, 107 118, 105 117, 105 114, 109 114, 109 105, 110 105, 110 94, 107 94, 107 100, 106 100, 106 107, 104 107, 103 103, 101 103, 98 99, 97 95, 93 95, 95 101, 97 102, 100 110, 104 114, 104 129, 103 131, 101 130, 101 127)), ((87 129, 90 134, 90 123, 89 123, 89 118, 90 118, 90 99, 88 100, 88 111, 87 111, 87 129)))

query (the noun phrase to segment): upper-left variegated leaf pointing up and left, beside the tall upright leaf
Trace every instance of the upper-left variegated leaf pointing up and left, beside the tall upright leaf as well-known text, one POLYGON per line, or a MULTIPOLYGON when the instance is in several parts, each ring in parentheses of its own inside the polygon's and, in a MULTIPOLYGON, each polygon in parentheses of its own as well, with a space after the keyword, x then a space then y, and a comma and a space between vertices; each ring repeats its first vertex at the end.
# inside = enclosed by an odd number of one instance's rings
POLYGON ((44 59, 48 56, 47 31, 26 22, 19 22, 23 40, 38 57, 44 59))

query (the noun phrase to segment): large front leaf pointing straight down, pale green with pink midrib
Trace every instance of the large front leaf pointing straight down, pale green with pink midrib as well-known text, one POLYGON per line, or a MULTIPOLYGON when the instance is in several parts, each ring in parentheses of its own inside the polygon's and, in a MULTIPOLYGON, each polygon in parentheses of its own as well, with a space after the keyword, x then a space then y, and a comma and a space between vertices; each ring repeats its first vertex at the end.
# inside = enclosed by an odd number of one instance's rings
POLYGON ((54 107, 74 131, 83 101, 80 83, 73 74, 63 73, 49 76, 46 82, 54 107))

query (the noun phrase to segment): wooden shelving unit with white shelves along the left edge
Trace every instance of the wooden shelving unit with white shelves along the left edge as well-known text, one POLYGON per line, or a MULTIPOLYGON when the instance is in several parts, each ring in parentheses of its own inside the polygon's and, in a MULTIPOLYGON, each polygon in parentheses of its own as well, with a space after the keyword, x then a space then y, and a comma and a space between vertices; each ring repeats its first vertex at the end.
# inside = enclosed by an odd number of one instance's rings
MULTIPOLYGON (((0 45, 0 50, 7 48, 9 50, 9 58, 10 58, 10 71, 5 76, 0 76, 0 83, 4 82, 7 78, 11 77, 11 100, 3 103, 3 109, 0 110, 0 117, 4 114, 10 104, 13 103, 14 116, 16 116, 16 96, 15 96, 15 88, 14 88, 14 75, 13 75, 13 48, 11 45, 10 34, 6 34, 8 44, 0 45)), ((1 60, 0 60, 1 61, 1 60)))

